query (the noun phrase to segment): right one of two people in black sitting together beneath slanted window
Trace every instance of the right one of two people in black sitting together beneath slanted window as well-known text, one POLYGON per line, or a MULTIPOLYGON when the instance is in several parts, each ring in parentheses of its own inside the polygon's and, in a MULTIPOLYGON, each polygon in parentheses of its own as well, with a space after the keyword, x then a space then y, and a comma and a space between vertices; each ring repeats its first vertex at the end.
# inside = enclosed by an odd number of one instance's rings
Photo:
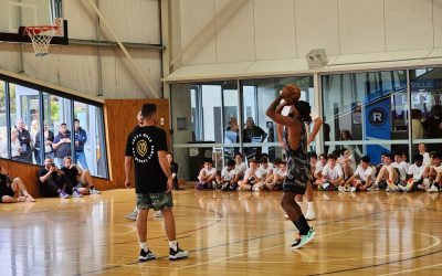
POLYGON ((61 169, 71 183, 82 194, 98 194, 101 191, 95 189, 94 180, 91 177, 88 170, 83 170, 77 164, 72 163, 71 157, 63 158, 64 167, 61 169), (80 179, 77 180, 77 177, 80 179))

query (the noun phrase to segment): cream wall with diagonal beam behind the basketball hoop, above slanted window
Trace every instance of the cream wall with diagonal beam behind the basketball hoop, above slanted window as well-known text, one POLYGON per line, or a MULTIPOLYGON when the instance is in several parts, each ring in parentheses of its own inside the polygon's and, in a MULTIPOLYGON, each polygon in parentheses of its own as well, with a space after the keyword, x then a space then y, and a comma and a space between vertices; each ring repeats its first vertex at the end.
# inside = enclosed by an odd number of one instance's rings
MULTIPOLYGON (((160 0, 93 0, 98 3, 110 28, 123 42, 161 44, 160 0)), ((63 0, 64 18, 69 22, 70 39, 115 41, 103 23, 97 28, 97 15, 88 0, 63 0), (97 32, 98 30, 98 32, 97 32)), ((154 91, 161 89, 161 52, 151 49, 128 49, 136 66, 154 91)), ((151 94, 134 71, 119 47, 103 46, 98 59, 95 45, 51 45, 50 55, 35 57, 31 44, 23 45, 24 74, 91 95, 105 98, 143 98, 151 94), (102 65, 102 91, 99 66, 102 65)), ((0 67, 20 71, 20 45, 0 43, 0 67)), ((151 96, 149 96, 151 97, 151 96)))

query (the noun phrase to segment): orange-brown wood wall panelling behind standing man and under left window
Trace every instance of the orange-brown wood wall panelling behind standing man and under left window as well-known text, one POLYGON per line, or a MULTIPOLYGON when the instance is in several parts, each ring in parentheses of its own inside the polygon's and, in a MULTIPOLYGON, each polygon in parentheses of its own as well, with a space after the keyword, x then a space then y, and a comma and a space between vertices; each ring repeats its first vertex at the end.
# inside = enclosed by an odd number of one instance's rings
MULTIPOLYGON (((168 148, 170 149, 170 119, 168 99, 107 99, 104 105, 106 120, 106 145, 109 179, 94 178, 95 185, 99 190, 124 188, 124 155, 127 135, 137 125, 136 115, 143 104, 156 104, 158 117, 164 118, 164 125, 159 126, 166 130, 168 148)), ((23 180, 32 197, 40 198, 38 171, 39 166, 0 159, 11 177, 19 177, 23 180)))

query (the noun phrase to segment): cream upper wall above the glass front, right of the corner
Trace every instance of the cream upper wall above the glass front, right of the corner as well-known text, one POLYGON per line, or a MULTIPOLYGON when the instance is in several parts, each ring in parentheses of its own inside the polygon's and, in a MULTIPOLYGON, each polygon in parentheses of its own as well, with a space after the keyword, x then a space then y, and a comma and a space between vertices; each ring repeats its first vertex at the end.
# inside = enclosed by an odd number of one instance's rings
POLYGON ((172 6, 179 9, 172 21, 179 22, 172 24, 171 39, 180 40, 173 42, 180 46, 173 53, 183 50, 175 70, 201 72, 194 65, 211 65, 207 68, 217 77, 227 64, 238 65, 230 65, 239 71, 232 73, 250 75, 299 63, 302 71, 308 70, 305 55, 322 47, 332 66, 442 57, 442 0, 245 0, 236 10, 234 2, 187 0, 172 6))

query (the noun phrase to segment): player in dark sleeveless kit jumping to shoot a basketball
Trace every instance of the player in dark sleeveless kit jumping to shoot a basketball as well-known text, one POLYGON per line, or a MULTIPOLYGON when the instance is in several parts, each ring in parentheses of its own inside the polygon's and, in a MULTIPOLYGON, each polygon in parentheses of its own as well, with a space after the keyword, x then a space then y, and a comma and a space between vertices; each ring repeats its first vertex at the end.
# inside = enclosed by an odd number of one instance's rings
POLYGON ((299 100, 301 89, 296 85, 284 86, 280 96, 269 106, 266 115, 275 123, 285 126, 285 152, 287 176, 283 183, 281 205, 290 220, 299 231, 299 237, 292 244, 292 250, 297 250, 315 238, 316 232, 304 217, 301 206, 294 195, 304 194, 311 181, 311 168, 307 157, 306 124, 312 121, 311 106, 299 100), (280 104, 284 99, 283 104, 280 104), (281 115, 284 106, 291 106, 288 116, 281 115))

